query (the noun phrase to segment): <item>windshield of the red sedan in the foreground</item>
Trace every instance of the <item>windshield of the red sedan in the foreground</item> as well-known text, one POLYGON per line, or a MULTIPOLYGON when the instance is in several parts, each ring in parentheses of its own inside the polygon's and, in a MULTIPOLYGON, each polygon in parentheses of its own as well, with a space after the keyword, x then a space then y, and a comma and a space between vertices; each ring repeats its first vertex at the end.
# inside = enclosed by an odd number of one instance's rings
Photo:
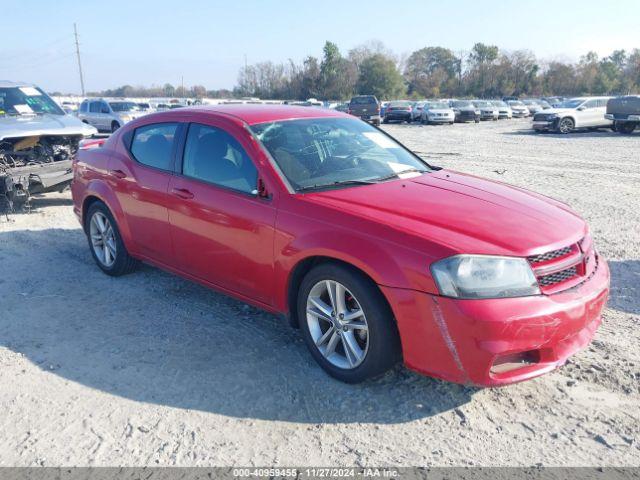
POLYGON ((429 167, 391 137, 350 118, 314 118, 251 127, 296 190, 375 182, 429 167), (388 178, 385 178, 388 177, 388 178))

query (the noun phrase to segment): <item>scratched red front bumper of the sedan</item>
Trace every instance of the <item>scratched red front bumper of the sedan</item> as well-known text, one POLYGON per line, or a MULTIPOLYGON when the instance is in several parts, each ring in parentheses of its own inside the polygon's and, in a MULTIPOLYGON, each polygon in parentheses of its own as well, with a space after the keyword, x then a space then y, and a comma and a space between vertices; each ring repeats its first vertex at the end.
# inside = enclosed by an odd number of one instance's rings
POLYGON ((498 386, 547 373, 583 349, 600 325, 609 269, 554 294, 458 300, 381 287, 397 319, 406 366, 444 380, 498 386), (501 359, 535 352, 535 362, 498 371, 501 359))

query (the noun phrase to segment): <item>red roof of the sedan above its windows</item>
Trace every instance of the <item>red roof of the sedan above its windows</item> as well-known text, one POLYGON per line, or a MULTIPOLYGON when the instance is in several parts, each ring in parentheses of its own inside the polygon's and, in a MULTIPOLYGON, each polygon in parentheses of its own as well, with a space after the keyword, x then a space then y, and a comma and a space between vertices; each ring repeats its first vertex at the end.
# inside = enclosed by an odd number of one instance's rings
POLYGON ((249 125, 296 118, 353 118, 351 115, 328 108, 298 107, 292 105, 198 105, 176 109, 175 111, 176 115, 183 115, 185 112, 204 115, 209 114, 212 116, 227 115, 235 117, 249 125))

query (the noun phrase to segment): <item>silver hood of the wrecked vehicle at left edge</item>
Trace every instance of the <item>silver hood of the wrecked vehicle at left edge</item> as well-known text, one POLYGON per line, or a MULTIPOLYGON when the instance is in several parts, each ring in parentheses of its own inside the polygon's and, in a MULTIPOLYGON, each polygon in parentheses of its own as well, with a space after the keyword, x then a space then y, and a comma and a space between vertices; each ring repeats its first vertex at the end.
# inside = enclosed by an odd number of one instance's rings
POLYGON ((34 135, 82 135, 90 136, 98 131, 70 115, 1 116, 0 139, 34 135))

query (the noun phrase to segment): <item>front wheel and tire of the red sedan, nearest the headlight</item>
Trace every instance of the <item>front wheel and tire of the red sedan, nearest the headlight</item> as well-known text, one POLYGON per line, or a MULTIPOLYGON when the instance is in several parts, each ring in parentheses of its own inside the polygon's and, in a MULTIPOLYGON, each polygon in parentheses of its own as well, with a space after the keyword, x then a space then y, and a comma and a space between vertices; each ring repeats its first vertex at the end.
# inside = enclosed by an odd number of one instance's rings
POLYGON ((332 377, 359 383, 388 371, 402 358, 391 309, 363 274, 326 263, 304 277, 298 318, 313 358, 332 377))

